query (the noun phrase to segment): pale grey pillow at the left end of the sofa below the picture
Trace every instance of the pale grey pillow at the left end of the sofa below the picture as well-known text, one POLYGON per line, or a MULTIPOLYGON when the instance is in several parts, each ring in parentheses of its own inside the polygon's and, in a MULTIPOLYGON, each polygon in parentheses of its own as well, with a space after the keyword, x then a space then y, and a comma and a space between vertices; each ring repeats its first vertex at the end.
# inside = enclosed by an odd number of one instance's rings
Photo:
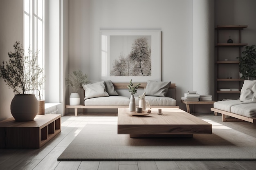
POLYGON ((103 82, 83 84, 83 89, 85 90, 85 99, 109 96, 103 82))

